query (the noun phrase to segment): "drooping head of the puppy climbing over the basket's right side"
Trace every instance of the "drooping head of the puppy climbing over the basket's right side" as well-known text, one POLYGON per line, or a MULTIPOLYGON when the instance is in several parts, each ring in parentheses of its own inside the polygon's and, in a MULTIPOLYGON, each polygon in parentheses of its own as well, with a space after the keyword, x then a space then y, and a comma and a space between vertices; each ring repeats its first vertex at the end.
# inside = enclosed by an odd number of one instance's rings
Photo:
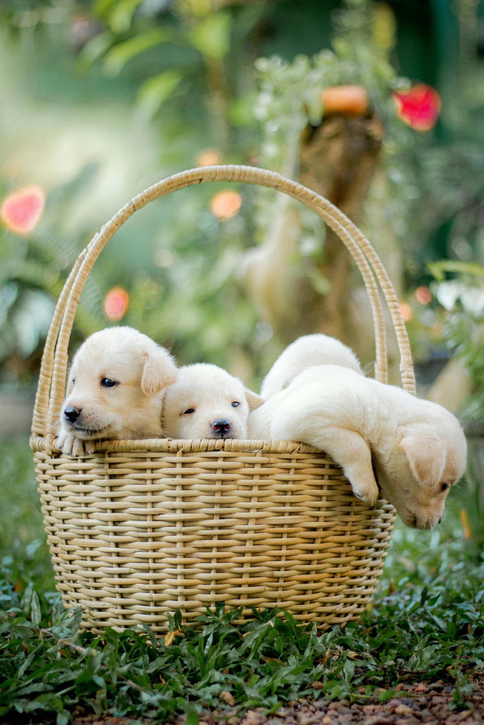
POLYGON ((454 415, 441 410, 439 421, 405 426, 386 465, 376 465, 383 495, 417 529, 440 523, 447 494, 465 471, 464 432, 454 415))

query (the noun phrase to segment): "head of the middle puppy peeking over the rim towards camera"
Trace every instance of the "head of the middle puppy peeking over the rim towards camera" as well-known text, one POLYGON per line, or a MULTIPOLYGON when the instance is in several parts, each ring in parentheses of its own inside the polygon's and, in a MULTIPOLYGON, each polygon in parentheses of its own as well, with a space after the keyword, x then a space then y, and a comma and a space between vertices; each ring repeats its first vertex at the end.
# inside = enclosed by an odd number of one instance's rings
POLYGON ((216 365, 186 365, 179 372, 178 381, 165 392, 163 434, 175 439, 245 439, 249 412, 263 399, 216 365))

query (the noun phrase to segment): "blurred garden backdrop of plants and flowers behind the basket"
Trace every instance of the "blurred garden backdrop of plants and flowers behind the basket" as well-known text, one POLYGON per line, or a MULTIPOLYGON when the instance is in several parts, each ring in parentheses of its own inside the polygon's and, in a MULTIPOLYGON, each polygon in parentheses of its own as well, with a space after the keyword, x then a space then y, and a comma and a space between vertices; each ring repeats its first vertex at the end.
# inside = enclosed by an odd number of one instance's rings
MULTIPOLYGON (((20 231, 2 207, 1 410, 11 389, 35 386, 55 299, 99 226, 170 173, 234 162, 300 178, 361 225, 401 299, 419 391, 477 431, 482 2, 2 0, 0 17, 1 200, 32 185, 46 197, 20 231)), ((340 242, 298 204, 233 184, 160 199, 118 231, 89 277, 70 352, 118 322, 180 363, 218 363, 255 387, 304 332, 339 336, 369 370, 374 359, 369 306, 340 242)), ((390 364, 398 381, 391 336, 390 364)), ((439 534, 464 537, 466 551, 482 542, 472 496, 483 496, 484 457, 471 458, 464 505, 439 534)), ((428 543, 419 537, 401 540, 409 560, 428 543)))

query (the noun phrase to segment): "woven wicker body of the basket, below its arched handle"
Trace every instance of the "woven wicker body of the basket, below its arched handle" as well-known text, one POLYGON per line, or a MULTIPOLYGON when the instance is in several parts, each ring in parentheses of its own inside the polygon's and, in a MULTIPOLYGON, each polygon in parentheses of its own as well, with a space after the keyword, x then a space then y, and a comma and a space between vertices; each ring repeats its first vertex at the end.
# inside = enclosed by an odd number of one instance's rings
POLYGON ((221 600, 246 614, 276 605, 325 624, 361 612, 393 506, 370 509, 310 446, 184 443, 81 460, 36 453, 60 590, 67 606, 83 605, 86 626, 143 620, 162 631, 167 611, 189 621, 221 600))

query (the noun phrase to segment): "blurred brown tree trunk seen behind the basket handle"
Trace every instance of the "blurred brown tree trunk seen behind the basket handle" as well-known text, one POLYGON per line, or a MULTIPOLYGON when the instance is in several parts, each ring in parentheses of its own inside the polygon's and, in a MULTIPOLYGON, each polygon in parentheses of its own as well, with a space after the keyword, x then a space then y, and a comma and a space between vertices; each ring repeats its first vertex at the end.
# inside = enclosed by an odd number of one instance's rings
MULTIPOLYGON (((300 149, 300 181, 335 204, 356 224, 380 158, 383 127, 377 118, 334 115, 317 128, 305 128, 300 149)), ((355 330, 368 338, 371 330, 354 324, 351 257, 343 242, 327 228, 324 261, 317 265, 330 283, 321 294, 303 273, 298 239, 300 224, 287 198, 279 198, 274 223, 261 247, 247 255, 246 283, 263 320, 274 328, 281 347, 300 335, 324 332, 358 344, 355 330)), ((324 277, 323 277, 324 276, 324 277)))

